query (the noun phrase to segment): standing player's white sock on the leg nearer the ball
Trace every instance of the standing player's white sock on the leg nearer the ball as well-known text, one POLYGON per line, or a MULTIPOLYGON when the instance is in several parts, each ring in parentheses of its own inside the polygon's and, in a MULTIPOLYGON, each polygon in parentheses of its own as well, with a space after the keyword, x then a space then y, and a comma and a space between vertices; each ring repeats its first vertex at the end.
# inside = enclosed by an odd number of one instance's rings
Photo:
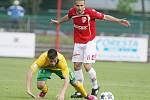
POLYGON ((90 77, 90 80, 91 80, 92 88, 97 89, 98 88, 98 83, 97 83, 96 72, 95 72, 94 68, 91 68, 88 71, 88 73, 89 73, 89 77, 90 77))

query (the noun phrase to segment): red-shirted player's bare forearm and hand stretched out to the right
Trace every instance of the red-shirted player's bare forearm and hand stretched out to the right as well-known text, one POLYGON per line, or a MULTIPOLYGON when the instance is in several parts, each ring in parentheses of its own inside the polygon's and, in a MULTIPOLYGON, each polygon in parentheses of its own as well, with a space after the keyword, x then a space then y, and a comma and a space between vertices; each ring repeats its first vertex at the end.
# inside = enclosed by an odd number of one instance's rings
POLYGON ((119 19, 119 18, 110 16, 110 15, 104 15, 104 19, 111 21, 111 22, 117 22, 117 23, 127 26, 127 27, 130 26, 130 22, 128 20, 126 20, 125 18, 119 19))

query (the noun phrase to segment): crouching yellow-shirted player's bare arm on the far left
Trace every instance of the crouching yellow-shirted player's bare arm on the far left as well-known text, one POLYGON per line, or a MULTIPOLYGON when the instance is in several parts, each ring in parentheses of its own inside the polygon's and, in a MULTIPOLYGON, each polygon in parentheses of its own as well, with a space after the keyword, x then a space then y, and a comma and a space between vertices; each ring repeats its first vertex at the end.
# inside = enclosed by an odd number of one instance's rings
POLYGON ((31 81, 32 81, 32 76, 33 76, 33 71, 31 69, 29 69, 28 73, 27 73, 27 80, 26 80, 26 85, 27 85, 27 94, 29 96, 31 96, 32 98, 35 98, 35 96, 32 94, 31 89, 31 81))

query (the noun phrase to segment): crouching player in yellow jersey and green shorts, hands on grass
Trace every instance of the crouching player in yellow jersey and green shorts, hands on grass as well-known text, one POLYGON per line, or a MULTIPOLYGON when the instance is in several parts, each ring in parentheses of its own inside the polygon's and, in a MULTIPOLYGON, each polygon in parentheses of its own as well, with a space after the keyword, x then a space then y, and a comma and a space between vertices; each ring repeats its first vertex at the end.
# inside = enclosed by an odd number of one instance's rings
POLYGON ((48 86, 46 81, 51 79, 52 73, 55 73, 61 79, 64 79, 64 85, 61 88, 57 100, 64 100, 65 92, 68 87, 69 81, 71 85, 82 94, 85 99, 94 100, 94 96, 87 95, 83 85, 75 80, 74 74, 71 69, 67 66, 64 56, 58 53, 55 49, 49 49, 48 51, 42 53, 39 58, 31 65, 27 73, 27 93, 33 98, 43 98, 48 92, 48 86), (32 94, 32 76, 38 70, 37 76, 37 88, 41 92, 34 96, 32 94))

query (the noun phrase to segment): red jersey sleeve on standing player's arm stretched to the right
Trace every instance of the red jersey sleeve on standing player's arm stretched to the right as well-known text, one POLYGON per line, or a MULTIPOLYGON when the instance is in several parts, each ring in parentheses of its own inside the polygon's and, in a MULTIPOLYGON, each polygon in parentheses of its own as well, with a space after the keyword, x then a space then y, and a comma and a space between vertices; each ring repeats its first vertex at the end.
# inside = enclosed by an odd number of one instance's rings
POLYGON ((100 19, 100 20, 104 19, 104 14, 96 11, 95 9, 91 9, 90 13, 91 13, 92 18, 100 19))

